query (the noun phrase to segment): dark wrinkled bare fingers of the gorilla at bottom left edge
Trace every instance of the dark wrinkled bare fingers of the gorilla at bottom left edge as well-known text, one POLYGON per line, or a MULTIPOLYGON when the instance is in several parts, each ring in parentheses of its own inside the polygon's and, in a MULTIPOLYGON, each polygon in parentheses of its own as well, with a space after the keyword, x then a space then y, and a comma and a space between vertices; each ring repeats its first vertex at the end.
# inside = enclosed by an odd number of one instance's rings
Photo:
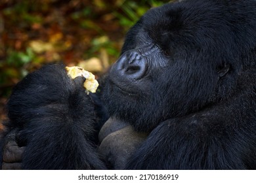
POLYGON ((18 146, 16 142, 16 130, 12 130, 5 137, 5 145, 3 147, 3 170, 18 170, 22 168, 22 154, 25 146, 18 146))

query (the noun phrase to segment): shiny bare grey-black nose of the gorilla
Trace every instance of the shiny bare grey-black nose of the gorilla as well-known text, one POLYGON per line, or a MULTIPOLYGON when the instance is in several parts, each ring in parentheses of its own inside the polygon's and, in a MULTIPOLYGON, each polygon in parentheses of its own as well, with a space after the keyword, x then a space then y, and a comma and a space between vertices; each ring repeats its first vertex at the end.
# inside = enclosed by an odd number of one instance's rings
POLYGON ((112 72, 139 80, 146 73, 146 58, 137 51, 125 52, 113 65, 112 72))

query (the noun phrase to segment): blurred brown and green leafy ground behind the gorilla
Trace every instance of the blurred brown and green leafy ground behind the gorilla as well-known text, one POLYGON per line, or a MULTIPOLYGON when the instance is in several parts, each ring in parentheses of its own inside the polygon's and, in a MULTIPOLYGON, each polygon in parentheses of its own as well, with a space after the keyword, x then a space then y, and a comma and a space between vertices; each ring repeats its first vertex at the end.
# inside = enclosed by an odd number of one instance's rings
POLYGON ((100 76, 118 58, 129 27, 167 2, 1 0, 0 121, 11 88, 28 73, 62 62, 100 76))

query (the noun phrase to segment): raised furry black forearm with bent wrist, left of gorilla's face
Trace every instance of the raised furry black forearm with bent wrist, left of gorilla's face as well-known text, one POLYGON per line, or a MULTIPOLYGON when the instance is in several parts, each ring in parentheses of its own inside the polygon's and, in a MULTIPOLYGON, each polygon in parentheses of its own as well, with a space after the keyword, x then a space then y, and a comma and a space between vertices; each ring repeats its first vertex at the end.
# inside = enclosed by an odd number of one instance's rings
POLYGON ((82 83, 64 66, 47 65, 15 86, 7 110, 12 128, 21 130, 18 144, 27 146, 23 169, 106 168, 95 150, 95 108, 82 83))

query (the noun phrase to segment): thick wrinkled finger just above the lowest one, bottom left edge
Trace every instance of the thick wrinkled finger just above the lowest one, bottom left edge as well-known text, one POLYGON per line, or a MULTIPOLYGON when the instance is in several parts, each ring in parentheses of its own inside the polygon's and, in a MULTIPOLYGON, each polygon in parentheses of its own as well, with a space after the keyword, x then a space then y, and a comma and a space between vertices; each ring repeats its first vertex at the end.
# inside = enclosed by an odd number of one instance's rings
POLYGON ((18 145, 11 145, 8 143, 3 151, 3 161, 5 163, 17 163, 22 161, 22 155, 26 147, 19 147, 18 145))

